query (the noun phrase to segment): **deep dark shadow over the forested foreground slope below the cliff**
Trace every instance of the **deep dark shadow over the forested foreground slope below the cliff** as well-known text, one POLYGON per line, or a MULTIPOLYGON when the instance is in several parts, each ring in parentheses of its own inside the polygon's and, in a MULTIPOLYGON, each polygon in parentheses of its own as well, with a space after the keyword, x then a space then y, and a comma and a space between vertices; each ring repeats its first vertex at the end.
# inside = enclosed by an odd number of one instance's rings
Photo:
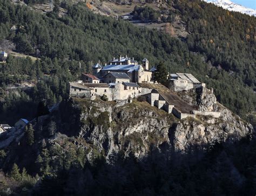
POLYGON ((112 153, 84 167, 73 163, 44 178, 35 195, 254 195, 256 141, 243 138, 174 152, 164 143, 147 157, 112 153))

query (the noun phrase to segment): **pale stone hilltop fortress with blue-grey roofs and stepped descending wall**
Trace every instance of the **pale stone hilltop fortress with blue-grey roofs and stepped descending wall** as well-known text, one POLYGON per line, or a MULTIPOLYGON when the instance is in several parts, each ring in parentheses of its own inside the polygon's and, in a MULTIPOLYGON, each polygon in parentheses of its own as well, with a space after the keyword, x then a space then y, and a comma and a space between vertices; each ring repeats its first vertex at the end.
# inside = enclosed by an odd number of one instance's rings
MULTIPOLYGON (((120 56, 109 61, 109 65, 93 65, 93 75, 83 73, 80 81, 70 82, 70 96, 84 97, 94 100, 96 96, 105 96, 108 101, 127 100, 144 96, 146 101, 158 109, 182 119, 196 115, 219 117, 214 111, 213 99, 210 107, 203 108, 181 99, 175 92, 201 89, 200 97, 204 99, 212 90, 205 83, 198 81, 192 74, 174 73, 169 75, 169 88, 153 82, 156 67, 149 68, 149 60, 144 58, 142 65, 133 58, 120 56), (161 87, 160 89, 154 88, 161 87), (164 89, 164 90, 163 90, 164 89)), ((167 76, 166 76, 167 79, 167 76)), ((213 95, 214 96, 214 95, 213 95)), ((214 96, 215 97, 215 96, 214 96)))

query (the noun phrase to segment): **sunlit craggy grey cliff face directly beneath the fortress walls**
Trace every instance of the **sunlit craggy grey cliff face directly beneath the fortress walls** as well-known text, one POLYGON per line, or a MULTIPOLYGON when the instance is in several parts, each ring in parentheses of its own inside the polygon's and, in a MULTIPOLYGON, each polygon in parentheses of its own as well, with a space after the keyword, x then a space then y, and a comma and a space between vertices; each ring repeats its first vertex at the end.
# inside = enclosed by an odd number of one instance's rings
POLYGON ((236 139, 252 131, 250 124, 219 103, 212 107, 221 112, 220 118, 197 116, 184 120, 146 102, 110 103, 76 99, 69 104, 68 108, 76 108, 77 120, 70 127, 63 128, 63 132, 84 138, 92 147, 91 152, 94 149, 104 156, 122 151, 125 155, 133 152, 136 157, 143 157, 151 146, 186 150, 193 144, 236 139), (69 131, 71 127, 73 129, 69 131))

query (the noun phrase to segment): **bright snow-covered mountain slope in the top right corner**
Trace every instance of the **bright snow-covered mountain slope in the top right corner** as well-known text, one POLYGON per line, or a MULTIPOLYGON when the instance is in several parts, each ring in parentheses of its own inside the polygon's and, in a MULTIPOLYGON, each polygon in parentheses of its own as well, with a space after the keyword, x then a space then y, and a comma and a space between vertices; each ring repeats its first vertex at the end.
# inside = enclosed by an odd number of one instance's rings
POLYGON ((230 11, 237 11, 237 12, 245 13, 247 15, 256 17, 256 10, 251 8, 246 8, 245 6, 233 3, 230 0, 204 0, 204 1, 207 3, 213 3, 217 6, 220 6, 230 11))

